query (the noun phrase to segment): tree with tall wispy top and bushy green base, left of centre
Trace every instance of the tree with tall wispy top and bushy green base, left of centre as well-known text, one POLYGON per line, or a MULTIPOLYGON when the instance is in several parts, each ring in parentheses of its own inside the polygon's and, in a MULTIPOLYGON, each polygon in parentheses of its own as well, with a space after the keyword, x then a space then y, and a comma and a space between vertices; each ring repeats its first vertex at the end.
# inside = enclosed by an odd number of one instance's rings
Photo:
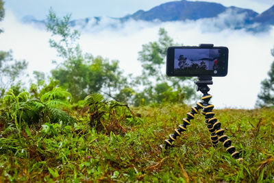
POLYGON ((90 93, 103 93, 116 99, 121 89, 127 87, 127 79, 119 69, 119 62, 94 58, 82 53, 77 43, 79 32, 71 28, 71 15, 58 18, 53 10, 47 16, 47 30, 52 33, 50 46, 58 51, 64 61, 51 74, 60 86, 67 88, 74 101, 84 99, 90 93))

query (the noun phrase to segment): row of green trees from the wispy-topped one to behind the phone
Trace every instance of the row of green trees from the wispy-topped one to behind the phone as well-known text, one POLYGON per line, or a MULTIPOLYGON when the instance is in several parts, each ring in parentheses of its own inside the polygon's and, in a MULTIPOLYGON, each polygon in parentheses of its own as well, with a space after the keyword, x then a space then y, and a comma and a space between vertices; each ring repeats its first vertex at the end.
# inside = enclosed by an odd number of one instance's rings
MULTIPOLYGON (((83 100, 90 93, 101 93, 105 97, 130 103, 134 106, 150 103, 180 102, 195 95, 193 87, 186 84, 186 77, 166 77, 162 73, 166 49, 175 45, 164 29, 159 30, 159 40, 142 45, 138 60, 142 64, 142 75, 123 75, 118 60, 108 60, 91 53, 83 53, 78 44, 79 32, 71 28, 71 15, 62 18, 53 10, 47 16, 47 30, 51 32, 49 44, 56 49, 62 62, 51 71, 51 84, 66 88, 73 102, 83 100)), ((34 73, 36 84, 32 91, 39 93, 45 84, 43 73, 34 73)))

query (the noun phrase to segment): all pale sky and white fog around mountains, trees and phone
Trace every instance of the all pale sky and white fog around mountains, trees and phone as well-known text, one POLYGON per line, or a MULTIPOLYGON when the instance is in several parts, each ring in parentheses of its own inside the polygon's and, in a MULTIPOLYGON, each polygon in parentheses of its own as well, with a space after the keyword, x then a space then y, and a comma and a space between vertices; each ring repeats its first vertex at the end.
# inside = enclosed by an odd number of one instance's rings
MULTIPOLYGON (((273 1, 273 0, 271 0, 273 1)), ((226 6, 236 5, 242 8, 251 8, 262 12, 274 3, 269 0, 241 0, 215 2, 226 6)), ((29 62, 28 73, 44 71, 49 73, 54 69, 52 60, 58 60, 56 51, 49 47, 51 34, 45 29, 38 29, 21 22, 23 16, 32 15, 37 19, 45 19, 49 7, 53 7, 58 16, 66 12, 73 14, 73 19, 87 16, 119 17, 133 13, 136 10, 149 10, 154 5, 166 1, 6 1, 5 19, 0 27, 5 32, 0 34, 0 50, 12 49, 17 60, 29 62), (23 3, 24 2, 24 3, 23 3), (108 5, 105 5, 108 4, 108 5), (24 7, 24 8, 22 8, 24 7), (116 7, 119 7, 116 10, 116 7)), ((79 44, 83 51, 93 56, 103 56, 109 60, 119 60, 119 65, 125 74, 141 73, 138 62, 138 51, 142 45, 158 40, 158 30, 164 27, 175 42, 184 45, 197 46, 200 43, 213 43, 215 46, 229 48, 229 68, 226 77, 214 77, 214 84, 210 86, 213 95, 212 102, 216 108, 253 108, 257 95, 260 92, 260 82, 267 77, 274 58, 271 49, 274 45, 274 29, 270 32, 252 34, 245 30, 223 28, 223 20, 239 21, 239 17, 227 12, 216 19, 173 22, 173 23, 146 23, 144 21, 129 21, 119 25, 115 21, 103 18, 100 25, 82 31, 79 44), (229 19, 227 19, 229 17, 229 19), (112 29, 110 23, 119 25, 119 29, 112 29), (214 28, 213 25, 219 25, 214 28)), ((165 67, 162 69, 165 72, 165 67)))

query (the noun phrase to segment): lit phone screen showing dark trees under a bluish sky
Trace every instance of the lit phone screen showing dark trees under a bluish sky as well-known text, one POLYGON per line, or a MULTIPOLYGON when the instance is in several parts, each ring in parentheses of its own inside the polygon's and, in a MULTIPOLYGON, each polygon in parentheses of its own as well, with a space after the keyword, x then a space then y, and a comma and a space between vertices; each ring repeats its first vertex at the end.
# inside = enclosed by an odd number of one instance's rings
POLYGON ((174 49, 174 72, 218 74, 221 54, 221 49, 174 49))

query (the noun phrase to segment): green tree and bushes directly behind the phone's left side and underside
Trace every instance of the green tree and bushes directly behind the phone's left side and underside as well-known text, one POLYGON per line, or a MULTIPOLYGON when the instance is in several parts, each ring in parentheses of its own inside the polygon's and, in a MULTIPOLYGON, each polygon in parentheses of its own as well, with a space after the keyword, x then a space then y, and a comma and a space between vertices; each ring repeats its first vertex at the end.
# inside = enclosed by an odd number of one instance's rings
POLYGON ((165 64, 166 51, 168 47, 178 45, 168 36, 164 28, 159 29, 158 41, 142 45, 138 60, 142 64, 142 76, 138 80, 146 86, 143 91, 135 95, 134 103, 160 103, 172 98, 172 102, 183 102, 195 95, 194 87, 188 86, 189 77, 166 77, 162 72, 165 64), (177 95, 168 97, 167 95, 177 95), (182 97, 183 96, 183 97, 182 97), (177 98, 177 101, 175 100, 177 98), (141 100, 141 101, 140 101, 141 100))

